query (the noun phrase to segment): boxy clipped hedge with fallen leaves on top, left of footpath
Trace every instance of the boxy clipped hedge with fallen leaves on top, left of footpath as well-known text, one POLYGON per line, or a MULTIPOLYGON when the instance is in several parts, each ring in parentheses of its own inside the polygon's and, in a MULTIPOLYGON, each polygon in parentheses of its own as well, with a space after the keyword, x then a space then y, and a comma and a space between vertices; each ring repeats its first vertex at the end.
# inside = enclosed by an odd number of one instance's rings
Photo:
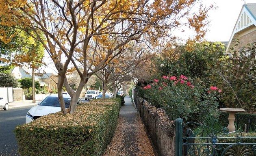
POLYGON ((115 133, 120 99, 91 100, 72 115, 61 112, 18 126, 21 156, 101 156, 115 133))

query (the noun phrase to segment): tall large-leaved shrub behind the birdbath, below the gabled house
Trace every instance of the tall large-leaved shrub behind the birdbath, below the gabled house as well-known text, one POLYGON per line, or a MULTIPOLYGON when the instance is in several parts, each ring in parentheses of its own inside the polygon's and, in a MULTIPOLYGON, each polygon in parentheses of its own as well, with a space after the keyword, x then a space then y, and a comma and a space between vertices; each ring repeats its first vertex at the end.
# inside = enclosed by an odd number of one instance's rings
MULTIPOLYGON (((233 48, 231 49, 233 50, 233 48)), ((226 54, 215 52, 209 68, 210 80, 222 89, 220 100, 226 107, 244 108, 247 112, 256 107, 256 43, 226 54), (220 58, 221 56, 221 58, 220 58)))

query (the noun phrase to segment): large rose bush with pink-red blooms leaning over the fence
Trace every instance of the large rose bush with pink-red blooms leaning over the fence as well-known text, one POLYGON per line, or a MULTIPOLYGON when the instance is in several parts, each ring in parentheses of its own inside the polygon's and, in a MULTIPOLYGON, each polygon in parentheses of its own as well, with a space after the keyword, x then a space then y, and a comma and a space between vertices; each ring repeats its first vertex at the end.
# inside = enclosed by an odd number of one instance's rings
POLYGON ((163 76, 160 80, 143 82, 137 86, 140 96, 157 108, 163 108, 170 119, 203 121, 209 115, 218 116, 218 96, 221 89, 206 87, 200 79, 181 75, 163 76))

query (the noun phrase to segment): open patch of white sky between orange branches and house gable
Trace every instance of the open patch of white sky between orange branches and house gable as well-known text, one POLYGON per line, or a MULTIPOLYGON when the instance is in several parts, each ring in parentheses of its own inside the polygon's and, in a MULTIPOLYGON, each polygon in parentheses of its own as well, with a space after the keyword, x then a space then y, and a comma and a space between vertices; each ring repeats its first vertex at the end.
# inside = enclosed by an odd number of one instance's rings
MULTIPOLYGON (((210 11, 208 16, 210 26, 206 32, 207 41, 229 41, 236 20, 243 7, 244 0, 204 0, 207 3, 215 3, 217 9, 210 11)), ((245 0, 246 3, 256 3, 256 0, 245 0)))

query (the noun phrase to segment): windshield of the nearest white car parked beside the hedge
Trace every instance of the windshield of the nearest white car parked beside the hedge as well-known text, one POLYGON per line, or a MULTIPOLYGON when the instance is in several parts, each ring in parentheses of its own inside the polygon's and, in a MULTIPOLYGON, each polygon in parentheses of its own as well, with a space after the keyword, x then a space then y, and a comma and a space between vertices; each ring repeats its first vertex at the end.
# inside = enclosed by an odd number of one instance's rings
MULTIPOLYGON (((66 108, 69 107, 70 100, 71 100, 71 98, 64 98, 66 108)), ((60 107, 59 98, 58 97, 46 97, 39 105, 40 106, 60 107)))

